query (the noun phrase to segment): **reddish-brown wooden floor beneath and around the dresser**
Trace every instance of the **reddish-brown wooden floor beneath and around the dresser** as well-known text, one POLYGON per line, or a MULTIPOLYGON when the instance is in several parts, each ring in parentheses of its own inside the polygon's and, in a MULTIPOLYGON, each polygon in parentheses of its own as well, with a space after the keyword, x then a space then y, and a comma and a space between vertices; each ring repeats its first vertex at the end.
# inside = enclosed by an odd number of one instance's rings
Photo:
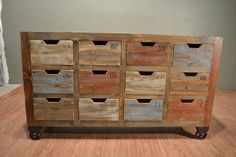
MULTIPOLYGON (((22 87, 0 97, 0 157, 235 157, 236 91, 217 92, 212 125, 205 140, 174 133, 45 133, 27 137, 22 87)), ((194 132, 193 128, 185 128, 194 132)), ((175 128, 172 130, 176 131, 175 128)))

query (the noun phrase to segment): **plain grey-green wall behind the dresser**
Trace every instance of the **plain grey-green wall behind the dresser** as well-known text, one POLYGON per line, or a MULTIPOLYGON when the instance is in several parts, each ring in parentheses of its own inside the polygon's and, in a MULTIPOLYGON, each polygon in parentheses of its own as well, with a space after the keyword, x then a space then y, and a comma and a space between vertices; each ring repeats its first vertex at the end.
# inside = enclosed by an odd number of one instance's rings
POLYGON ((236 89, 235 0, 3 0, 10 82, 22 81, 20 31, 224 37, 221 89, 236 89))

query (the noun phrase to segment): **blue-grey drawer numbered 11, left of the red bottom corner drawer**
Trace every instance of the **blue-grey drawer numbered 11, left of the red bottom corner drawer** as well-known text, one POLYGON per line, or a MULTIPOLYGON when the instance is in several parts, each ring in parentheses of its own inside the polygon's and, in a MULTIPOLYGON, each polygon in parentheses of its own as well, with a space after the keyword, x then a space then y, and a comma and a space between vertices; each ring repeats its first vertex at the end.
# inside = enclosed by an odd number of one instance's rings
POLYGON ((163 100, 158 99, 125 99, 124 119, 162 120, 163 100))

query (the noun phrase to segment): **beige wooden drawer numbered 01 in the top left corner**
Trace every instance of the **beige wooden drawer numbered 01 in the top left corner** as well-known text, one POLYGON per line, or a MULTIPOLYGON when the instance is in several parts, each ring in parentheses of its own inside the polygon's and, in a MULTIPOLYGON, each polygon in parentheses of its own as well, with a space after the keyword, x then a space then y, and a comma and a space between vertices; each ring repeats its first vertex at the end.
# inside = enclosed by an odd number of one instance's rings
POLYGON ((70 40, 30 40, 32 65, 73 65, 70 40))

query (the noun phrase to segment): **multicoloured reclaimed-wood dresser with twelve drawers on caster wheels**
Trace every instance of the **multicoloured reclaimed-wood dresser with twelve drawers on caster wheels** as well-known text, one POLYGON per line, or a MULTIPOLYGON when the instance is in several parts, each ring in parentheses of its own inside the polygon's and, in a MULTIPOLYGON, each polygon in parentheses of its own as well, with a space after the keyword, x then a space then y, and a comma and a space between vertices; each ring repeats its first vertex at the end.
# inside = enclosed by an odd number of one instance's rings
POLYGON ((210 125, 221 37, 22 32, 28 129, 210 125))

